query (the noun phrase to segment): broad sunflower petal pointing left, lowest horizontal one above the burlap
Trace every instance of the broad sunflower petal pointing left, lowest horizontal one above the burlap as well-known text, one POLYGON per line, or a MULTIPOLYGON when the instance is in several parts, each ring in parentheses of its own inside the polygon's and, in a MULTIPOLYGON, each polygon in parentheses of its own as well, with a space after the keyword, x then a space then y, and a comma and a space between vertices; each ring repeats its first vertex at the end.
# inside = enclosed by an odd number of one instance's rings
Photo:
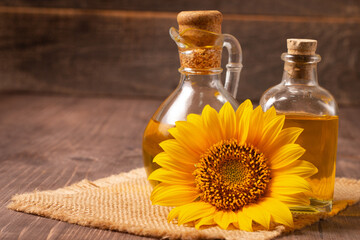
POLYGON ((170 185, 160 183, 151 193, 152 204, 161 206, 181 206, 193 202, 200 193, 193 185, 170 185))

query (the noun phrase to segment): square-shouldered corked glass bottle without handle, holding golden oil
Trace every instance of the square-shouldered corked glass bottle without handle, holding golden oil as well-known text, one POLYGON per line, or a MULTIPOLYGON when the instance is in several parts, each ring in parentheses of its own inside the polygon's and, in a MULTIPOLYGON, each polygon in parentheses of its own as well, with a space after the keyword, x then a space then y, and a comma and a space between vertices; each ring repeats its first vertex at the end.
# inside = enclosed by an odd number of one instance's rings
POLYGON ((335 163, 338 137, 338 107, 334 97, 320 87, 317 79, 316 40, 288 39, 288 52, 280 84, 268 89, 260 99, 266 111, 274 106, 285 115, 284 128, 300 127, 304 131, 296 143, 305 148, 301 157, 314 164, 318 172, 309 178, 313 194, 310 206, 293 207, 293 211, 329 212, 335 184, 335 163))

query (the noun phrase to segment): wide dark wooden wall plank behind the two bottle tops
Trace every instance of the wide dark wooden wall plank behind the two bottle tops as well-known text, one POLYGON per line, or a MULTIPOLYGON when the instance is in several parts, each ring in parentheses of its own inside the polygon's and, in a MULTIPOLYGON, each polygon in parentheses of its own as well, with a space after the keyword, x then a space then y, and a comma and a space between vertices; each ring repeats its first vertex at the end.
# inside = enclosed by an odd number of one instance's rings
MULTIPOLYGON (((0 91, 164 98, 178 83, 175 13, 11 9, 0 14, 0 91)), ((280 55, 296 37, 318 40, 320 84, 360 105, 360 19, 225 15, 223 32, 243 48, 238 99, 257 101, 280 82, 280 55)))

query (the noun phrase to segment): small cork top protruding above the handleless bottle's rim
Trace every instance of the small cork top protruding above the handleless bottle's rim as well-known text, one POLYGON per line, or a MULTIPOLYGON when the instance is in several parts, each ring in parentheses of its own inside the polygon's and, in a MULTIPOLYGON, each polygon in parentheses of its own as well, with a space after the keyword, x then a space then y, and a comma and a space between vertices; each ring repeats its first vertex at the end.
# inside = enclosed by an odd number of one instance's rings
POLYGON ((313 39, 287 39, 288 54, 315 55, 317 41, 313 39))

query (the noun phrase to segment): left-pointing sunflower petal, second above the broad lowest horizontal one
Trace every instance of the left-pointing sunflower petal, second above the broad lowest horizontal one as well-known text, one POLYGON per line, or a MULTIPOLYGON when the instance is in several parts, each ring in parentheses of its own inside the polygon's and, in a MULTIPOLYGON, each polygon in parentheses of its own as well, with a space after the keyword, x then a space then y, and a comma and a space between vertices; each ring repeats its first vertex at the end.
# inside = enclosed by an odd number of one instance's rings
POLYGON ((167 170, 173 170, 177 172, 193 172, 195 170, 195 165, 188 162, 180 162, 170 158, 166 152, 161 152, 155 156, 153 159, 154 163, 157 163, 167 170))

